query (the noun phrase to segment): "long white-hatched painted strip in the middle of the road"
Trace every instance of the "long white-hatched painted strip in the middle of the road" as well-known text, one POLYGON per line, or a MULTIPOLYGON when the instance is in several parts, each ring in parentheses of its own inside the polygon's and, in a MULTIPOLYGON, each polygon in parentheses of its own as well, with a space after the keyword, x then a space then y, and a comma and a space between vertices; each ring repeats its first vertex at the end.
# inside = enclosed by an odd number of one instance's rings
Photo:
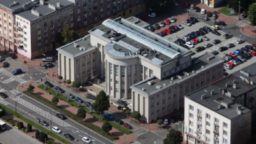
POLYGON ((49 120, 52 120, 53 122, 55 122, 56 124, 59 124, 60 126, 71 126, 67 122, 64 122, 63 120, 60 120, 60 118, 57 118, 54 115, 51 115, 47 111, 44 111, 43 109, 40 109, 39 107, 33 105, 32 103, 30 103, 30 102, 28 102, 28 101, 26 101, 26 100, 24 100, 20 97, 11 98, 11 99, 14 100, 14 101, 17 101, 17 103, 20 103, 21 105, 24 105, 25 107, 28 107, 29 109, 32 109, 32 111, 35 111, 36 113, 39 113, 43 117, 48 118, 49 120))

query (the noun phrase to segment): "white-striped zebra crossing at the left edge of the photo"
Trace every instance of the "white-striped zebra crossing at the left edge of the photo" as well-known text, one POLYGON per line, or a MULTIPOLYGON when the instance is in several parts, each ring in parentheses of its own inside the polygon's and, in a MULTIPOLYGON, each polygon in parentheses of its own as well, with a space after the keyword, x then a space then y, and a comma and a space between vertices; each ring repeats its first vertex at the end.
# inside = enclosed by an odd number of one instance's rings
POLYGON ((24 75, 12 75, 11 71, 7 71, 3 68, 0 69, 0 79, 3 79, 4 77, 9 77, 9 79, 6 79, 5 81, 3 81, 3 83, 9 83, 12 81, 17 81, 20 82, 20 84, 26 82, 24 79, 22 79, 21 77, 24 77, 24 75))

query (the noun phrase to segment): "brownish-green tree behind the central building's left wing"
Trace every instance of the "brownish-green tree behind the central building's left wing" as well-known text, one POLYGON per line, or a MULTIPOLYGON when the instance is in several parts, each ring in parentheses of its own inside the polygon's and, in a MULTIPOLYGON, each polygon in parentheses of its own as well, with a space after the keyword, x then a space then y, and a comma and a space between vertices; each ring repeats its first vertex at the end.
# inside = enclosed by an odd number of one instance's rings
POLYGON ((60 35, 57 37, 57 41, 62 45, 66 45, 68 43, 71 43, 72 41, 77 40, 79 37, 77 33, 75 33, 73 27, 70 27, 69 24, 64 24, 64 27, 62 27, 62 31, 60 35))

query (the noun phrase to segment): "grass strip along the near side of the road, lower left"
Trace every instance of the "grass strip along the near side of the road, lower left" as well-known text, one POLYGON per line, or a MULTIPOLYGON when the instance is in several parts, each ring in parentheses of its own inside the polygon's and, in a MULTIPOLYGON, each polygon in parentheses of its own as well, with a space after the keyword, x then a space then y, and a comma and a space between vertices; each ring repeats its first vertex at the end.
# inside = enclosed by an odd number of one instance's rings
POLYGON ((48 133, 48 135, 51 135, 52 137, 54 137, 55 139, 58 139, 59 141, 63 141, 63 143, 67 143, 67 144, 72 144, 70 141, 67 141, 66 139, 64 139, 63 137, 61 137, 60 135, 57 135, 55 133, 51 133, 50 130, 47 130, 46 128, 44 128, 43 126, 33 122, 32 120, 24 117, 23 115, 20 115, 20 113, 15 113, 15 111, 13 111, 12 109, 10 109, 9 107, 3 105, 0 103, 0 106, 3 107, 5 109, 5 111, 7 111, 8 113, 10 113, 11 115, 14 115, 15 117, 20 118, 21 120, 23 120, 24 122, 27 122, 28 124, 31 124, 33 127, 37 128, 38 130, 41 130, 41 132, 44 132, 45 134, 48 133))

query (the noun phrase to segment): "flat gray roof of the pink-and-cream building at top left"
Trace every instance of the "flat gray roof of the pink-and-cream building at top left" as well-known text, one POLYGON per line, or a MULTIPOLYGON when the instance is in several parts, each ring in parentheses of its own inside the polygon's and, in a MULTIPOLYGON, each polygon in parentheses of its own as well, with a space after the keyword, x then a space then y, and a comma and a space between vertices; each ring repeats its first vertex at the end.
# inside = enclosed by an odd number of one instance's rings
POLYGON ((37 10, 37 12, 40 13, 40 16, 36 16, 35 14, 32 14, 31 9, 19 12, 17 15, 22 16, 22 18, 25 18, 26 20, 35 20, 36 18, 45 16, 51 12, 56 11, 54 9, 49 8, 49 3, 51 3, 51 5, 54 5, 56 10, 62 9, 63 7, 66 7, 67 5, 73 4, 72 2, 67 1, 67 0, 49 0, 49 1, 45 1, 45 5, 35 6, 34 10, 37 10), (56 3, 60 3, 61 7, 57 7, 56 3))

